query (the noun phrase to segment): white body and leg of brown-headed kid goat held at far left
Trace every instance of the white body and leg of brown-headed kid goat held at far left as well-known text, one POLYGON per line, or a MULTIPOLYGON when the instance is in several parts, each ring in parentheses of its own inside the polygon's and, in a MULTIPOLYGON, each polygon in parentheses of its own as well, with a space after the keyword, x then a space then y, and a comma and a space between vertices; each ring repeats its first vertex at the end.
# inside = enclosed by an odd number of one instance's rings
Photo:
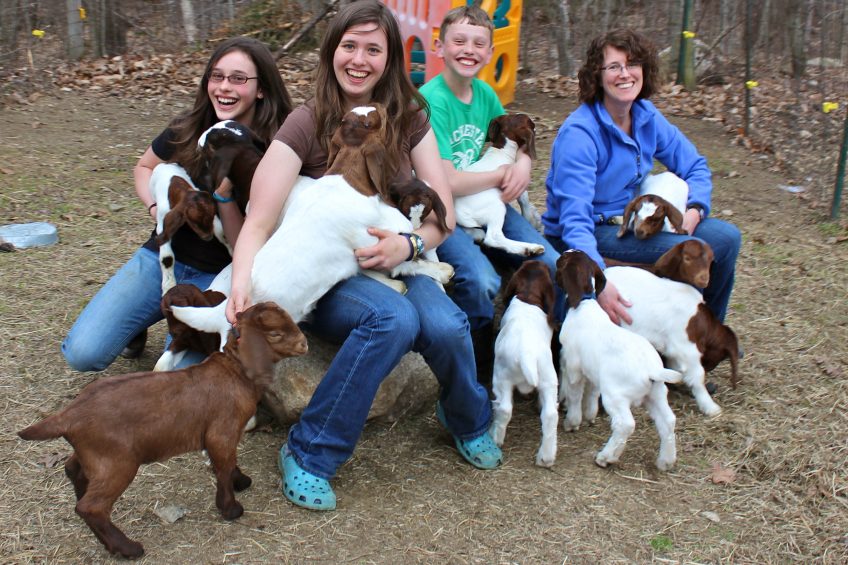
MULTIPOLYGON (((150 176, 150 194, 156 202, 156 234, 160 237, 165 230, 165 218, 171 212, 169 193, 171 192, 171 182, 174 177, 184 180, 188 183, 189 187, 197 190, 191 177, 189 177, 186 170, 180 165, 175 163, 160 163, 154 167, 153 174, 150 176)), ((211 200, 211 196, 209 196, 209 199, 211 200)), ((213 201, 211 208, 213 214, 212 232, 218 241, 223 243, 230 253, 232 253, 232 248, 227 244, 224 237, 221 220, 214 214, 214 210, 215 204, 213 201)), ((205 237, 206 234, 201 233, 202 230, 198 230, 194 222, 187 220, 187 223, 200 237, 205 237)), ((162 294, 164 295, 177 284, 176 277, 174 276, 174 250, 171 247, 170 238, 159 243, 159 264, 162 268, 162 294)))

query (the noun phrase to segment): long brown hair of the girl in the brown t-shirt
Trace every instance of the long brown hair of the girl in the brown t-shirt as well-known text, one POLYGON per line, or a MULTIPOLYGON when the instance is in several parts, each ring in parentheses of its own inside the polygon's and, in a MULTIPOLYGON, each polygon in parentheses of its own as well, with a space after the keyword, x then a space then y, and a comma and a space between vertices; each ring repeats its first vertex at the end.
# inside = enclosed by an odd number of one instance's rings
MULTIPOLYGON (((333 71, 333 56, 344 33, 353 26, 376 24, 386 34, 388 60, 383 76, 374 87, 372 100, 385 106, 388 115, 386 146, 388 162, 396 169, 400 162, 400 141, 412 125, 417 112, 429 112, 427 102, 406 74, 403 39, 391 10, 377 0, 357 0, 341 10, 330 21, 321 43, 318 71, 315 76, 315 124, 318 142, 328 149, 333 132, 345 114, 344 93, 333 71)), ((391 171, 390 178, 396 170, 391 171)))

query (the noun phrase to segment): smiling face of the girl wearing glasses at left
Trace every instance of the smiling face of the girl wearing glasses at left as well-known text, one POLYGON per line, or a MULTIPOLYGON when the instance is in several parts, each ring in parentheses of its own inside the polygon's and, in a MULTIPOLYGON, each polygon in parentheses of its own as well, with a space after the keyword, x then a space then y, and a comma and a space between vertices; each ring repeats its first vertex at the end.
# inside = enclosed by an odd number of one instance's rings
POLYGON ((223 75, 224 80, 214 82, 211 78, 206 85, 209 100, 219 120, 235 120, 251 127, 256 111, 257 98, 264 95, 259 88, 256 65, 244 51, 230 51, 218 59, 209 71, 210 75, 223 75), (249 78, 244 84, 233 84, 229 77, 249 78))

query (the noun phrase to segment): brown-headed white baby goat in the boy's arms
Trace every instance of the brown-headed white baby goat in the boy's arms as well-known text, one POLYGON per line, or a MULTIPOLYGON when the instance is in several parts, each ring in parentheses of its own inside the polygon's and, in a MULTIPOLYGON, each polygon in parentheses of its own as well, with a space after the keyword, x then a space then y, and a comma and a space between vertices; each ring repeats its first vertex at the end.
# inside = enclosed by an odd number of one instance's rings
MULTIPOLYGON (((536 158, 536 125, 526 114, 505 114, 489 124, 486 140, 492 145, 477 162, 465 171, 472 173, 494 171, 502 165, 515 163, 518 149, 524 150, 531 159, 536 158)), ((541 225, 538 212, 530 203, 527 191, 518 197, 521 214, 537 229, 541 225)), ((454 199, 456 223, 470 228, 475 241, 508 253, 534 257, 545 252, 541 245, 508 239, 503 233, 506 207, 501 200, 501 191, 489 188, 476 194, 458 196, 454 199), (483 233, 485 230, 485 233, 483 233)))

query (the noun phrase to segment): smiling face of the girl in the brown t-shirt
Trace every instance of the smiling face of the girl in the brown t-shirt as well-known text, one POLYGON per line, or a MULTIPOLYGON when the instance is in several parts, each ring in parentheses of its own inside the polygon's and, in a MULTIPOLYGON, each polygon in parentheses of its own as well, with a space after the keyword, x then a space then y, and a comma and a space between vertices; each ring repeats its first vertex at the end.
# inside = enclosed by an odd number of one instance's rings
POLYGON ((333 72, 350 109, 371 101, 389 59, 386 33, 376 23, 348 28, 333 54, 333 72))

